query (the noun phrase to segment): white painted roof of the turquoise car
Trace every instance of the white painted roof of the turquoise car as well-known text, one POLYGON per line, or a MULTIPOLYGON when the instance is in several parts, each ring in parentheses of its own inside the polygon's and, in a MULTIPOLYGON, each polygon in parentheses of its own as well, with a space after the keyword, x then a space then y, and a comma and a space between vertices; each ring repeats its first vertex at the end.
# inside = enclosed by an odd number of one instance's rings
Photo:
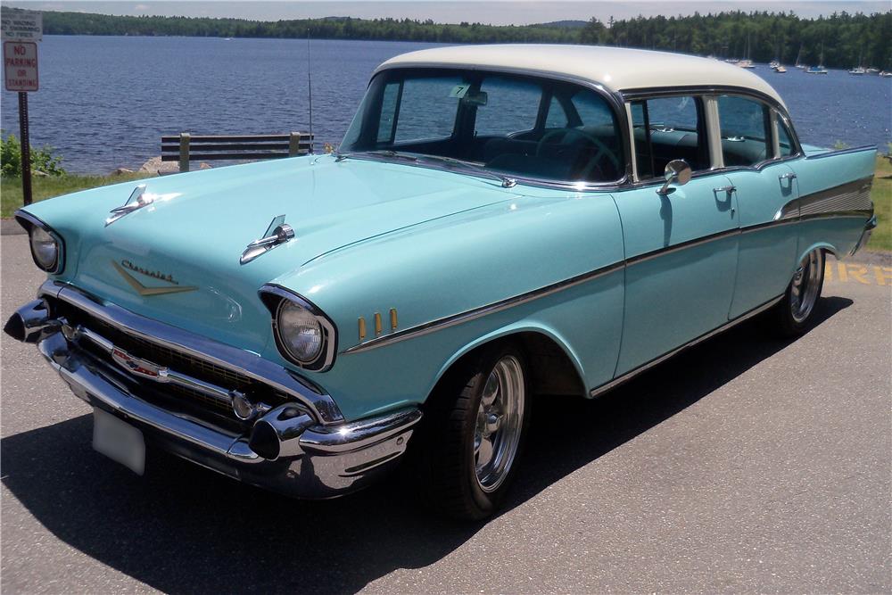
POLYGON ((785 105, 774 88, 746 69, 687 54, 599 45, 451 45, 401 54, 376 70, 402 66, 455 66, 536 70, 598 83, 615 92, 642 88, 744 87, 785 105))

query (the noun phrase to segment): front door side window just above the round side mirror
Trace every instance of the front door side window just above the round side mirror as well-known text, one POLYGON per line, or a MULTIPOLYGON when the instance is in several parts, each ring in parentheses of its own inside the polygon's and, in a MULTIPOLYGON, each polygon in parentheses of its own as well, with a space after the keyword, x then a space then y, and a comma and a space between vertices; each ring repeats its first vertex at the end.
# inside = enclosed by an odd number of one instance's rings
POLYGON ((635 156, 641 179, 662 177, 669 161, 709 169, 703 105, 697 97, 656 97, 632 102, 635 156))

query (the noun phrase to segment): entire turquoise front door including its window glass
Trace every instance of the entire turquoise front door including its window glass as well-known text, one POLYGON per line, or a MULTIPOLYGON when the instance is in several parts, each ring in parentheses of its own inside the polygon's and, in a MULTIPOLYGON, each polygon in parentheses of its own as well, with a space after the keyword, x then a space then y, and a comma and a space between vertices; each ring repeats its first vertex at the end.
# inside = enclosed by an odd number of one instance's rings
POLYGON ((739 219, 731 181, 711 173, 706 106, 699 97, 630 104, 638 177, 653 184, 615 194, 623 222, 625 310, 615 376, 705 335, 728 319, 739 219), (657 194, 669 161, 694 177, 657 194))

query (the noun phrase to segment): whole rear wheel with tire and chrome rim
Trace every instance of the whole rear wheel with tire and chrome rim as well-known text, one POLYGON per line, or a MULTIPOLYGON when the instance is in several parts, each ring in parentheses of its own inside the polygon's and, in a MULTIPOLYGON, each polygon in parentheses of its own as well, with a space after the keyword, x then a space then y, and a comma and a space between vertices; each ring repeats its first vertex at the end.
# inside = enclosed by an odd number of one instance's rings
POLYGON ((824 252, 805 254, 783 299, 774 307, 777 329, 781 335, 802 335, 814 322, 814 311, 824 285, 824 252))

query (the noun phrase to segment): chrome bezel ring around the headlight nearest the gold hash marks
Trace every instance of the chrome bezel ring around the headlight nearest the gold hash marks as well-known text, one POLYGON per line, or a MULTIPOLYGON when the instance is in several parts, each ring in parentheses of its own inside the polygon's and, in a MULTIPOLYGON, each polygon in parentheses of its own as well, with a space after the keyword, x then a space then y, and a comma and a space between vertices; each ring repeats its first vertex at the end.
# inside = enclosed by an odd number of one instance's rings
POLYGON ((313 302, 310 302, 301 294, 294 293, 284 287, 263 285, 260 287, 259 293, 260 301, 266 305, 271 315, 270 324, 272 325, 273 337, 282 357, 303 369, 316 372, 326 372, 330 369, 335 364, 335 353, 337 352, 337 328, 331 318, 328 318, 325 312, 319 310, 313 302), (312 359, 301 359, 298 357, 291 351, 288 347, 288 342, 282 337, 279 313, 285 306, 301 308, 301 310, 305 310, 316 320, 322 334, 322 345, 318 354, 312 359))

